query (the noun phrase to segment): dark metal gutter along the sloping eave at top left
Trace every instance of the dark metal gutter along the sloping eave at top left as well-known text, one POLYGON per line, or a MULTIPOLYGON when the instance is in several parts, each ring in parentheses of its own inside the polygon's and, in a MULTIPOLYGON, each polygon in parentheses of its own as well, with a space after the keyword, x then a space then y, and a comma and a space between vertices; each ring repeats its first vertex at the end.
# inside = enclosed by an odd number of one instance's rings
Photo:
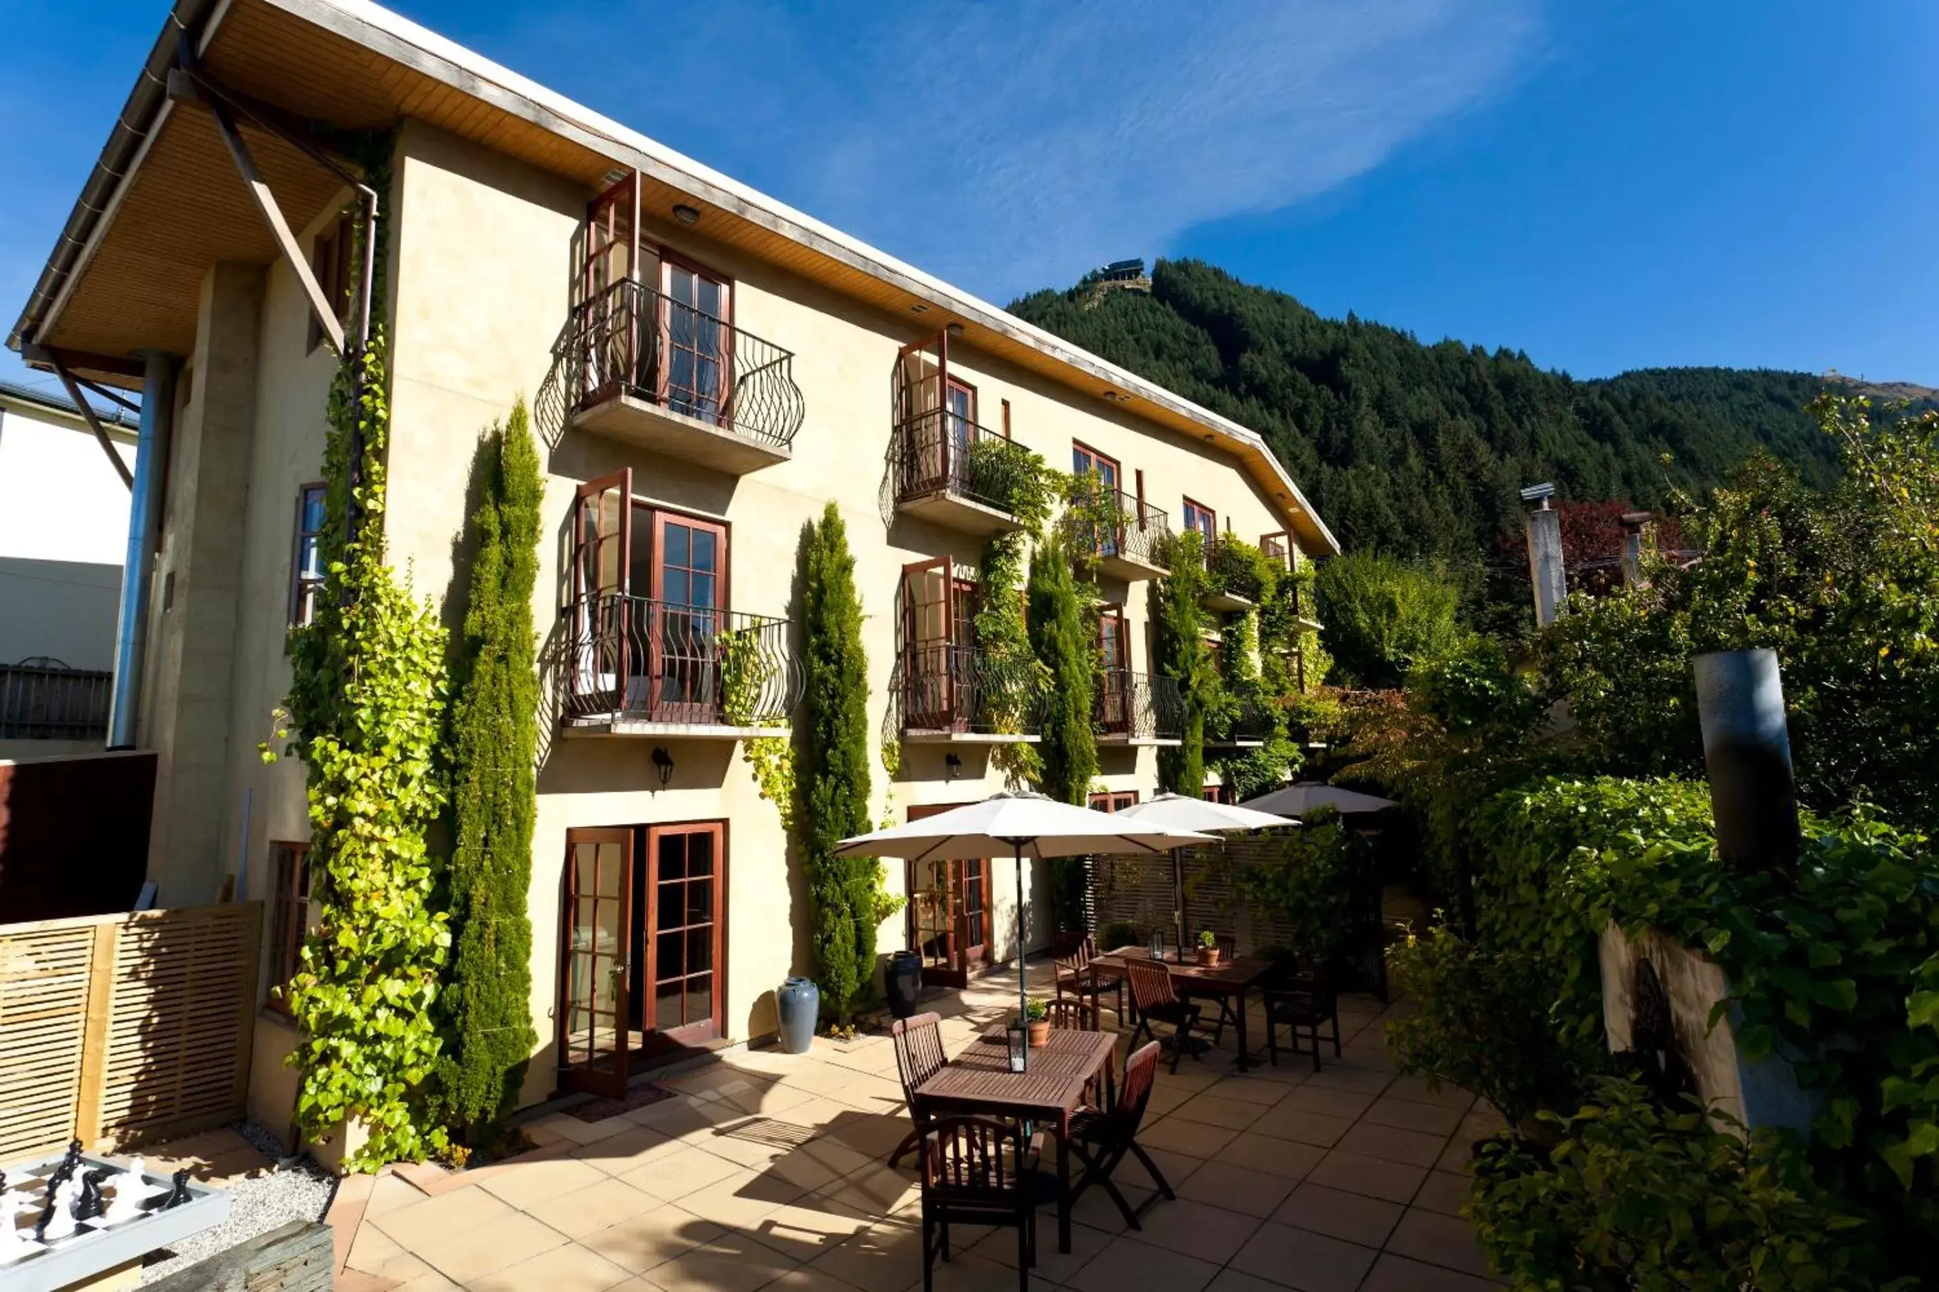
POLYGON ((161 25, 161 35, 155 37, 155 46, 142 64, 142 76, 128 93, 120 116, 114 118, 114 130, 109 132, 109 141, 103 145, 101 157, 95 159, 95 169, 81 184, 81 196, 74 200, 74 209, 41 269, 41 279, 33 285, 14 331, 8 333, 10 351, 19 351, 25 343, 39 339, 39 329, 60 312, 58 306, 93 258, 93 248, 107 229, 107 215, 114 209, 149 141, 169 116, 167 77, 180 50, 182 35, 194 37, 198 48, 206 46, 227 8, 229 0, 176 0, 175 8, 169 10, 169 19, 161 25))

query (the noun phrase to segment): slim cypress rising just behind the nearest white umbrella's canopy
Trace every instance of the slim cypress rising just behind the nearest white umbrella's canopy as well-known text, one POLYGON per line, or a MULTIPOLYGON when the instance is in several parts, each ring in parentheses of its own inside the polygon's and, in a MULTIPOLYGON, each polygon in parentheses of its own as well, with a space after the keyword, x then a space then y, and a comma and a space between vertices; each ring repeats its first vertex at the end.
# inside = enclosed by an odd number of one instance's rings
POLYGON ((1045 684, 1043 792, 1082 808, 1097 775, 1096 637, 1086 631, 1084 599, 1059 533, 1037 542, 1030 558, 1030 649, 1045 684))

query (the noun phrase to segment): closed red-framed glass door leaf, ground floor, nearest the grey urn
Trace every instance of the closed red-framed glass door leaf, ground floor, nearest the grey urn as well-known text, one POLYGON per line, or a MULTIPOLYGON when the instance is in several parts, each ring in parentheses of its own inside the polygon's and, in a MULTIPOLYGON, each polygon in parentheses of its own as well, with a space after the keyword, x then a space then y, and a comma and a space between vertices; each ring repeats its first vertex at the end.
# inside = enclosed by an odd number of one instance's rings
POLYGON ((694 1044, 721 1034, 723 841, 717 821, 648 827, 648 1025, 661 1040, 694 1044))

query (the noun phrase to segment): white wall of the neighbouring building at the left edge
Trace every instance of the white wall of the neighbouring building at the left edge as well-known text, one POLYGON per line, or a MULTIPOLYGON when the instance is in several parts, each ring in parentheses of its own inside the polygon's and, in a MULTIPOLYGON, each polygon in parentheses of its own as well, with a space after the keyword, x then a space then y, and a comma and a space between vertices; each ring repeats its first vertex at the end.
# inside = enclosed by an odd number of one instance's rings
MULTIPOLYGON (((136 418, 105 415, 134 471, 136 418)), ((0 382, 0 664, 114 664, 128 486, 60 395, 0 382)))

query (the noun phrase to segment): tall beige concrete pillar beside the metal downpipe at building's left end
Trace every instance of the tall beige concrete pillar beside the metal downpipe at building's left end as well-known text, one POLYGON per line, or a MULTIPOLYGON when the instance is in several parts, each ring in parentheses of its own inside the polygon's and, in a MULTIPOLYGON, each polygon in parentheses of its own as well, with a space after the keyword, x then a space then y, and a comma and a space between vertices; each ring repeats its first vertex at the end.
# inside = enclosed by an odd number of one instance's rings
POLYGON ((264 269, 202 279, 188 401, 175 428, 149 633, 149 740, 159 754, 147 876, 159 905, 219 897, 264 269))

